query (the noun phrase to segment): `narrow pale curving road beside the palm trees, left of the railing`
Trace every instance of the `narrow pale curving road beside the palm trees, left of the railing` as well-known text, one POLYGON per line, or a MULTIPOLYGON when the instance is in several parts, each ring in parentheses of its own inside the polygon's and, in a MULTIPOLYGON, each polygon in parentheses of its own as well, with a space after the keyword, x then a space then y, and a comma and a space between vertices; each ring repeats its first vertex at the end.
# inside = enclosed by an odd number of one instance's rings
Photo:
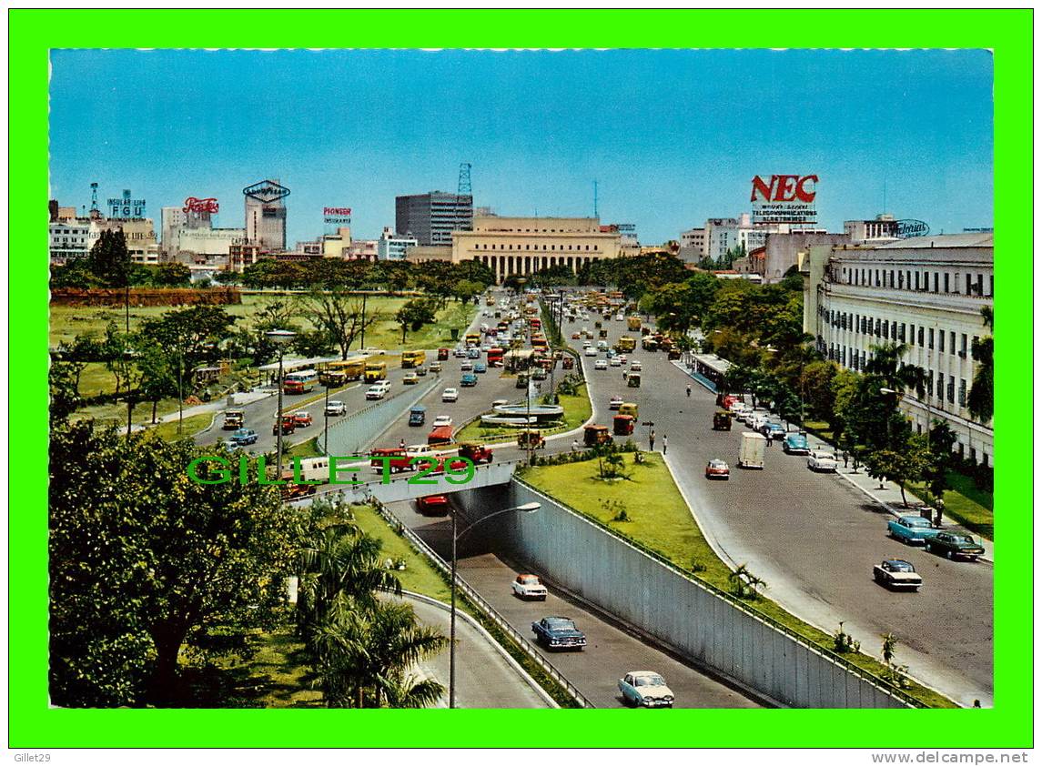
MULTIPOLYGON (((420 622, 449 635, 449 612, 417 598, 406 598, 420 622)), ((436 708, 448 707, 449 650, 419 663, 416 674, 445 687, 436 708)), ((549 708, 528 681, 477 628, 456 619, 456 708, 549 708)))

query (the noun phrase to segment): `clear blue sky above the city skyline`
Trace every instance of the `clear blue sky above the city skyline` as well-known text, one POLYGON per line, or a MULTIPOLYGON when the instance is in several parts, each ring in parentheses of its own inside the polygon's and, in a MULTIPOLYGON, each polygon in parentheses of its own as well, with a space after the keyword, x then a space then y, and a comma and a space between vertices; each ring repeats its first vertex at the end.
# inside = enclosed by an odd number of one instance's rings
POLYGON ((637 224, 645 243, 750 208, 753 175, 810 174, 819 222, 887 208, 932 229, 991 226, 986 51, 115 51, 51 55, 51 197, 130 189, 159 208, 292 190, 288 241, 324 206, 352 234, 394 198, 455 191, 500 215, 637 224))

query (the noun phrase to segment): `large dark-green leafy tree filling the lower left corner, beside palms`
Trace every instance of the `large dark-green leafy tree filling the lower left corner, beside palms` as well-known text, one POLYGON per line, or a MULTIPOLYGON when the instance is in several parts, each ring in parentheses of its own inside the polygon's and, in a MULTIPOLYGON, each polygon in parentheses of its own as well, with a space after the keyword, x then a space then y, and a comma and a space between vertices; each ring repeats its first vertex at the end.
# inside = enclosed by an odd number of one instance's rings
POLYGON ((245 653, 287 600, 295 526, 278 491, 200 485, 212 449, 80 422, 50 448, 50 696, 182 703, 178 656, 245 653))

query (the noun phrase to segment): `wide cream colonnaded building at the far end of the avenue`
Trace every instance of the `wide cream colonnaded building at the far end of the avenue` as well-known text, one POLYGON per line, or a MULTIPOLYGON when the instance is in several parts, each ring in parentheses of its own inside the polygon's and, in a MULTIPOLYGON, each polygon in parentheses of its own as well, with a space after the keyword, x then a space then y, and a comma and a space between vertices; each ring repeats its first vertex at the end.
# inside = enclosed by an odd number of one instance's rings
POLYGON ((511 274, 531 274, 551 266, 578 271, 586 265, 623 253, 618 231, 602 231, 596 218, 474 219, 470 231, 452 236, 452 263, 477 260, 496 281, 511 274))

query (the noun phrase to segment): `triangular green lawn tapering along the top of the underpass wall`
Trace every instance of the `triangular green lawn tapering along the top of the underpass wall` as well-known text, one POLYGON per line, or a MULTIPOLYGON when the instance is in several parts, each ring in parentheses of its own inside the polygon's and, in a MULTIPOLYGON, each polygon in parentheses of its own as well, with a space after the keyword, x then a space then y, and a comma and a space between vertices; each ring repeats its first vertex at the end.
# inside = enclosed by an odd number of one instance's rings
MULTIPOLYGON (((596 460, 526 468, 523 478, 617 535, 650 548, 694 577, 731 592, 730 569, 717 558, 702 537, 662 458, 654 453, 642 454, 642 465, 634 462, 634 454, 624 454, 626 470, 630 472, 629 480, 599 480, 596 477, 596 460), (630 520, 614 521, 623 510, 630 520)), ((819 646, 833 648, 832 636, 791 615, 770 598, 761 596, 746 600, 746 604, 819 646)), ((874 637, 865 638, 866 651, 878 649, 874 637)), ((882 663, 867 654, 848 653, 845 658, 871 673, 878 674, 884 670, 882 663)), ((900 662, 899 648, 897 661, 900 662)), ((914 672, 915 668, 912 670, 914 672)), ((914 682, 907 691, 932 708, 957 707, 946 697, 914 682)))

